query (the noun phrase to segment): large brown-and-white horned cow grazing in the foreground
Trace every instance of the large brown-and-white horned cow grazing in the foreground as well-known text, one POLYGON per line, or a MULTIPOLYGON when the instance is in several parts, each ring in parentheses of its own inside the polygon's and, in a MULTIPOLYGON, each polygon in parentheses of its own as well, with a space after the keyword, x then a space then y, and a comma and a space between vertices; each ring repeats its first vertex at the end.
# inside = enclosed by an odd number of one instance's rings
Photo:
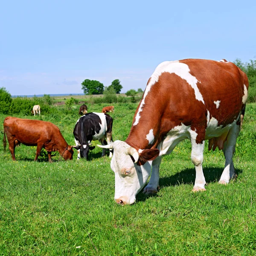
POLYGON ((247 76, 231 62, 185 59, 161 63, 148 80, 125 142, 99 145, 114 149, 115 201, 134 203, 151 167, 144 192, 156 193, 161 157, 184 139, 192 144, 193 191, 205 190, 205 140, 209 140, 209 150, 218 147, 224 151, 226 161, 219 183, 229 183, 235 175, 232 157, 247 92, 247 76))

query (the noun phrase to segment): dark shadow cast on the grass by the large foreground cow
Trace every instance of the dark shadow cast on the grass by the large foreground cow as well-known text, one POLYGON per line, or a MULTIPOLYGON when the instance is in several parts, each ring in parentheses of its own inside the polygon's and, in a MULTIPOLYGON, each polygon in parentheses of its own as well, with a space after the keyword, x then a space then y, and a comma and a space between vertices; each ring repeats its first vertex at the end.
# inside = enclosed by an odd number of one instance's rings
MULTIPOLYGON (((203 169, 203 171, 204 171, 204 177, 205 177, 206 183, 209 184, 212 182, 218 182, 223 170, 224 170, 224 168, 205 167, 203 169)), ((235 171, 236 171, 237 175, 239 175, 240 173, 243 172, 243 170, 241 170, 241 169, 235 169, 235 171)), ((187 169, 184 169, 183 171, 178 172, 175 175, 172 175, 170 177, 160 177, 160 179, 159 179, 160 189, 163 187, 166 187, 166 186, 180 186, 181 184, 194 185, 194 183, 195 183, 195 168, 187 168, 187 169)), ((143 187, 143 189, 144 189, 144 187, 143 187)), ((145 201, 146 198, 148 198, 148 197, 157 196, 157 194, 145 195, 143 193, 143 189, 137 195, 137 197, 136 197, 137 201, 145 201)))

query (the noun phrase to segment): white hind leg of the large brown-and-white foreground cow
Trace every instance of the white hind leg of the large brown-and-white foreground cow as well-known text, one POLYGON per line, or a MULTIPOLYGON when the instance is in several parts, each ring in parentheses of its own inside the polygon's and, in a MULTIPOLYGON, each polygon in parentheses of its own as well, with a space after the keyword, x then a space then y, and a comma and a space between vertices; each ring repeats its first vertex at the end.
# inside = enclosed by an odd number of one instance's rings
POLYGON ((224 143, 223 152, 226 160, 225 168, 219 181, 220 184, 227 184, 229 183, 230 179, 236 176, 232 157, 235 153, 236 138, 238 137, 239 132, 240 125, 234 125, 227 135, 227 141, 224 143))

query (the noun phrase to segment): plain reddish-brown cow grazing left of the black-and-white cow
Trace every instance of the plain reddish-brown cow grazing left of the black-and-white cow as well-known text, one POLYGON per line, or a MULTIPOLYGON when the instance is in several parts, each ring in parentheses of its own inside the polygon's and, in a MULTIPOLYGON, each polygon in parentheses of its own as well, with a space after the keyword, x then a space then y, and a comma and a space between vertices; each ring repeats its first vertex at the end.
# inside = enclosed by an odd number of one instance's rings
POLYGON ((3 147, 6 149, 6 136, 12 160, 15 158, 15 146, 22 143, 26 146, 37 146, 35 161, 42 148, 48 153, 49 162, 52 162, 51 152, 58 151, 65 160, 73 159, 72 146, 64 140, 60 129, 51 122, 40 120, 21 119, 8 116, 3 121, 3 147))

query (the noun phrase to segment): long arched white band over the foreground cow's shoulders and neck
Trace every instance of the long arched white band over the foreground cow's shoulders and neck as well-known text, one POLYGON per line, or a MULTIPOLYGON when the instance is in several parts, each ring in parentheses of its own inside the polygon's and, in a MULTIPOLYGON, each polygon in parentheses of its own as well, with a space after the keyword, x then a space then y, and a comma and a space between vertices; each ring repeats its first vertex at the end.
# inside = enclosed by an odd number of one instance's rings
POLYGON ((139 123, 140 112, 143 110, 143 106, 145 105, 145 98, 148 95, 151 87, 158 81, 159 77, 164 72, 168 72, 171 74, 175 73, 177 76, 180 76, 180 78, 186 80, 187 83, 191 85, 191 87, 195 91, 195 99, 204 103, 203 96, 197 87, 198 80, 195 78, 195 76, 192 76, 189 71, 189 66, 185 63, 180 63, 179 61, 164 61, 159 64, 155 69, 154 73, 152 74, 150 81, 145 89, 143 99, 140 102, 140 107, 138 109, 137 115, 135 116, 135 121, 133 125, 137 125, 139 123))

